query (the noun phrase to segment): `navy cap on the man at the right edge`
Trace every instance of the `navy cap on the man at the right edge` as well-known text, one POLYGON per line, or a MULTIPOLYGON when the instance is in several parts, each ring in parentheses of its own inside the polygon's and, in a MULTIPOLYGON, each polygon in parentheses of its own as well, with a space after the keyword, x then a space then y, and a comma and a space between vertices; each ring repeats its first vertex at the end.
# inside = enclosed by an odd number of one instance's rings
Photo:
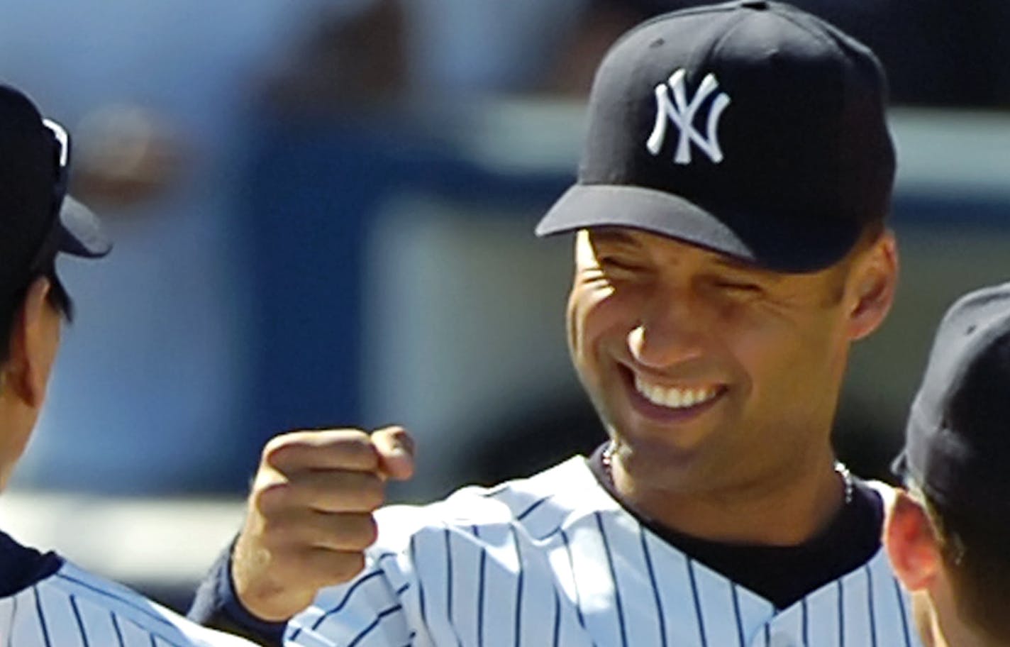
POLYGON ((1010 526, 1010 283, 944 314, 892 466, 945 510, 1010 526))

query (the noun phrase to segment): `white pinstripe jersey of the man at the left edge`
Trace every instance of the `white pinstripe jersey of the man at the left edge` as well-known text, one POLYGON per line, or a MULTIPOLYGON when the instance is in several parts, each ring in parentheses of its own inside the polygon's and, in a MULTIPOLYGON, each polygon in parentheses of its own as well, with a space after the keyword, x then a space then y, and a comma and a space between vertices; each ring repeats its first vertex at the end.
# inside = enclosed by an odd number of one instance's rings
POLYGON ((4 647, 251 647, 73 564, 0 598, 4 647))

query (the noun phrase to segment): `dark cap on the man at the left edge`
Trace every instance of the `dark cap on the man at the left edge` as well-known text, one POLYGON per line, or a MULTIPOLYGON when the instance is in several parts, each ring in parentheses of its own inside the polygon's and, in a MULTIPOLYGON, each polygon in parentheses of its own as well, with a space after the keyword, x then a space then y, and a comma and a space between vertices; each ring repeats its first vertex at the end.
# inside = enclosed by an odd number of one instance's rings
POLYGON ((111 248, 98 218, 67 194, 70 136, 18 90, 0 85, 0 300, 60 252, 100 257, 111 248))

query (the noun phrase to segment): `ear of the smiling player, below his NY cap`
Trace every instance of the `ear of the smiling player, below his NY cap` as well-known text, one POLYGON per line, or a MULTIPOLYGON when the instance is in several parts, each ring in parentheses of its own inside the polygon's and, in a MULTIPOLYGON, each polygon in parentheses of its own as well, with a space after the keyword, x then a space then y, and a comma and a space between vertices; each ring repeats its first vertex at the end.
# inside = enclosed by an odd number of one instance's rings
POLYGON ((853 260, 850 275, 849 338, 860 340, 876 331, 891 311, 898 287, 898 245, 884 232, 853 260))

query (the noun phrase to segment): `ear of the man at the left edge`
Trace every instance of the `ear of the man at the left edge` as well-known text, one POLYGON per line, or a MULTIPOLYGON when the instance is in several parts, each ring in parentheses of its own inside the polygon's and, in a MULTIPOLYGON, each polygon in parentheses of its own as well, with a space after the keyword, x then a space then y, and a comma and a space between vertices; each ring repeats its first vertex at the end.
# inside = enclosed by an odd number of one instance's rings
POLYGON ((46 296, 49 280, 32 281, 11 325, 8 359, 3 367, 3 385, 26 405, 37 408, 45 398, 45 385, 53 365, 55 348, 48 339, 52 306, 46 296))

